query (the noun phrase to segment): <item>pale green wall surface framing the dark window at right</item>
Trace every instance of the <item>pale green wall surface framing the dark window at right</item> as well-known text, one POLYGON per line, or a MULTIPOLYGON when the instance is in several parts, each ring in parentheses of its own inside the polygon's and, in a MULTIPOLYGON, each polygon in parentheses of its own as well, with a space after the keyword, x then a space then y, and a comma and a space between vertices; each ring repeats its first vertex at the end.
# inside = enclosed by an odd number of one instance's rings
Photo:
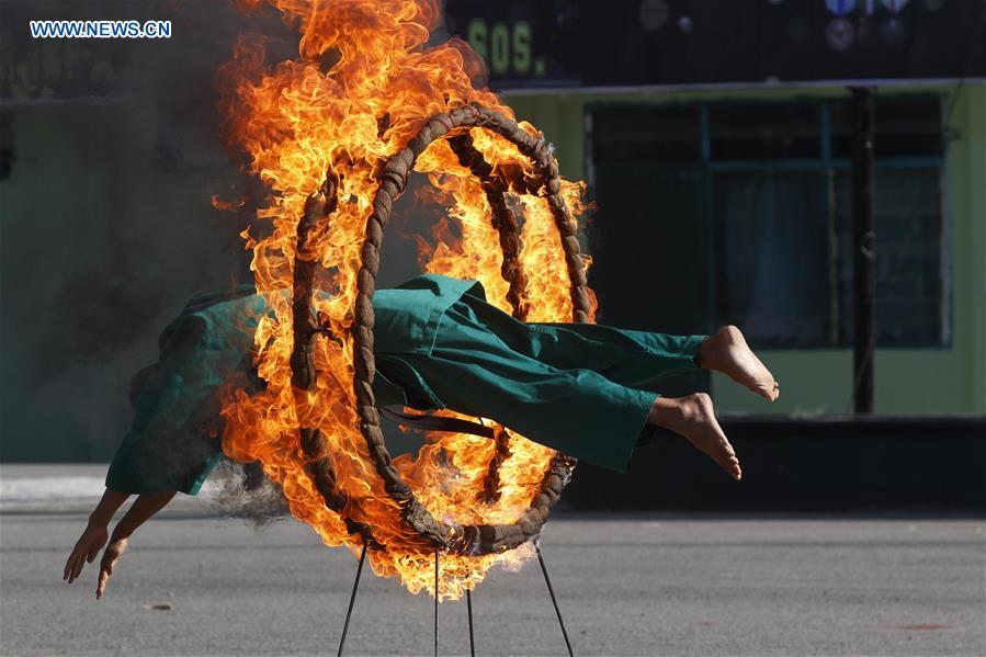
MULTIPOLYGON (((952 102, 949 127, 956 139, 947 160, 947 222, 951 223, 953 340, 950 349, 880 349, 875 356, 879 414, 986 414, 986 84, 913 86, 893 92, 933 91, 952 102)), ((889 92, 889 91, 884 91, 889 92)), ((544 132, 555 145, 562 172, 587 177, 586 106, 594 102, 841 97, 841 88, 639 91, 633 93, 507 94, 518 118, 544 132)), ((880 145, 877 144, 877 151, 880 145)), ((715 375, 719 410, 796 415, 851 410, 852 353, 845 349, 764 350, 763 360, 781 384, 781 399, 767 406, 715 375)))

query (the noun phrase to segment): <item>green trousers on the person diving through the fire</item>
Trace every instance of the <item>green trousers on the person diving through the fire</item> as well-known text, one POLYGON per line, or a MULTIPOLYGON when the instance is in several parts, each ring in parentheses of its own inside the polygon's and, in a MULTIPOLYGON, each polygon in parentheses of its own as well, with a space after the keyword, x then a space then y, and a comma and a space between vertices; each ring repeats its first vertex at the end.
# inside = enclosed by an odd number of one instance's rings
POLYGON ((377 354, 422 410, 489 418, 579 460, 626 472, 660 382, 698 367, 702 336, 525 324, 472 294, 424 354, 377 354))

